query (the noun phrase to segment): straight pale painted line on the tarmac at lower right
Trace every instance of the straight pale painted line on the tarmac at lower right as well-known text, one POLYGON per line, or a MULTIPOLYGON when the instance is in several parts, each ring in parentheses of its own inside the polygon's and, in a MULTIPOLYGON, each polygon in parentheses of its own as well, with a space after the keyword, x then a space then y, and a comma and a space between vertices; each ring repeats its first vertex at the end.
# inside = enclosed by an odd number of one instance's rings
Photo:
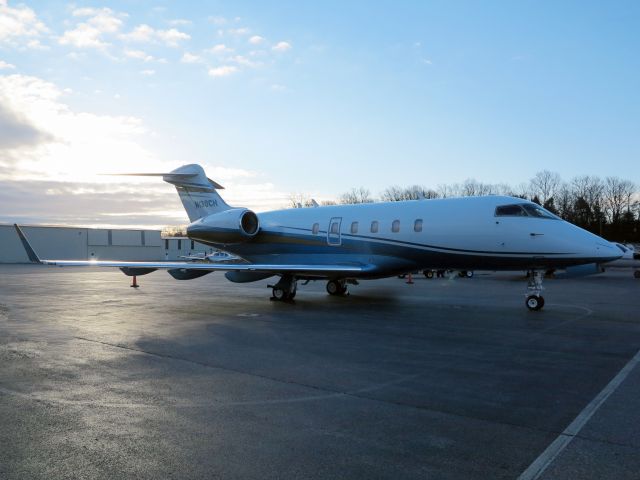
POLYGON ((538 458, 536 458, 529 467, 522 472, 518 480, 536 480, 549 468, 560 453, 567 448, 571 441, 580 433, 580 430, 587 424, 591 417, 598 409, 607 401, 613 392, 624 382, 629 373, 640 363, 640 350, 633 356, 629 362, 613 377, 602 391, 595 396, 578 416, 569 424, 564 431, 546 448, 538 458))

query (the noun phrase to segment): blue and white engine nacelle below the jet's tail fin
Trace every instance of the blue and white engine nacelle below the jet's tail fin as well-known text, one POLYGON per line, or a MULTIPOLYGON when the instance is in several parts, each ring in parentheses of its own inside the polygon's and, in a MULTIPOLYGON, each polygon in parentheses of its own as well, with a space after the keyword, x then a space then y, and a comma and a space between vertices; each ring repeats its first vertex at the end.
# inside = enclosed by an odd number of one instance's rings
POLYGON ((187 235, 204 243, 233 245, 248 242, 259 230, 260 221, 254 212, 232 208, 193 222, 187 228, 187 235))

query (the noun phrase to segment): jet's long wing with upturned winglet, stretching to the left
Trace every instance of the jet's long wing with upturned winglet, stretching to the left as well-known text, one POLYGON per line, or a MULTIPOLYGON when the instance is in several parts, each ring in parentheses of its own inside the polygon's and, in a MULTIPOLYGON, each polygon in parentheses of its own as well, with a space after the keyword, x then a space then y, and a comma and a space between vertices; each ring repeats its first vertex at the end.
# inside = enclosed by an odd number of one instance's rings
POLYGON ((22 245, 27 251, 29 260, 44 265, 60 267, 115 267, 127 271, 153 270, 198 270, 198 271, 241 271, 259 273, 292 273, 307 276, 357 275, 373 270, 373 265, 334 264, 334 265, 291 265, 291 264, 259 264, 259 263, 193 263, 193 262, 120 262, 112 260, 44 260, 38 257, 20 227, 14 224, 22 245))

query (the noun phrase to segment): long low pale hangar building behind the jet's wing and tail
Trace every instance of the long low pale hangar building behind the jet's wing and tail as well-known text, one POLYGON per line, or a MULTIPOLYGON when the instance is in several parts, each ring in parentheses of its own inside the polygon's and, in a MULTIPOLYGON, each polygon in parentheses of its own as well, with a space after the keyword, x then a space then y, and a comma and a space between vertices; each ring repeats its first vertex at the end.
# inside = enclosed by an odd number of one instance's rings
MULTIPOLYGON (((162 238, 160 230, 45 225, 21 227, 38 255, 48 259, 158 261, 213 252, 211 247, 186 237, 162 238)), ((0 263, 29 263, 11 224, 0 224, 0 263)))

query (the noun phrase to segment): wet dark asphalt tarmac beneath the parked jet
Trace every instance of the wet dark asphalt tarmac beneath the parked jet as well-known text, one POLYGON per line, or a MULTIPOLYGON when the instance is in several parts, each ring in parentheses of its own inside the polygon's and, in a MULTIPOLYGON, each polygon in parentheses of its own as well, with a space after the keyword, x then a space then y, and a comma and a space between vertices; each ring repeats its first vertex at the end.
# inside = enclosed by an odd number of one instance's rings
POLYGON ((0 265, 0 478, 640 478, 629 269, 391 278, 0 265))

